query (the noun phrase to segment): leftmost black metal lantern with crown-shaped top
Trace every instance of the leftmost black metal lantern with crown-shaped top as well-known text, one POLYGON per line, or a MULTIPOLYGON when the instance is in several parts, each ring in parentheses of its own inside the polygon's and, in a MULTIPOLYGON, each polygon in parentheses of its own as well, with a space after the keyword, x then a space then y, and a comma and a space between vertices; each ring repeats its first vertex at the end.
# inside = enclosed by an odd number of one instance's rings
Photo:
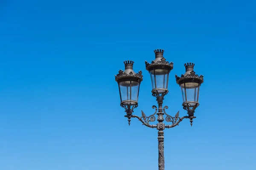
POLYGON ((124 61, 124 64, 125 71, 119 70, 119 74, 115 77, 119 86, 121 106, 125 108, 130 125, 133 109, 138 106, 140 82, 142 82, 143 76, 142 71, 139 71, 139 73, 134 72, 133 61, 124 61))

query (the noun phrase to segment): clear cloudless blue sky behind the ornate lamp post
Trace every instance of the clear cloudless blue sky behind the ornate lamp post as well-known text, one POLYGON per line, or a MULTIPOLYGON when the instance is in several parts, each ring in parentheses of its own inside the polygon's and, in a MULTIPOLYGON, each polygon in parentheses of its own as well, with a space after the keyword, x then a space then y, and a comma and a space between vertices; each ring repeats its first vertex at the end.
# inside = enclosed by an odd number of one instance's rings
POLYGON ((166 170, 256 170, 256 3, 251 0, 1 0, 0 170, 157 170, 157 130, 128 127, 114 79, 174 62, 168 113, 186 115, 175 74, 204 74, 200 106, 165 130, 166 170))

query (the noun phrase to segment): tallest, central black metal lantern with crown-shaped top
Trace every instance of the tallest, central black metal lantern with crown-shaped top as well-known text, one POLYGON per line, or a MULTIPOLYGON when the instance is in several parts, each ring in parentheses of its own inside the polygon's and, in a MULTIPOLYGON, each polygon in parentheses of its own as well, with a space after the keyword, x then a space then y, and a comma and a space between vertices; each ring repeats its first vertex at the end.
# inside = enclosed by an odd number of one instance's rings
POLYGON ((149 64, 145 61, 146 70, 148 70, 151 83, 152 83, 152 93, 157 94, 167 94, 168 93, 168 79, 169 73, 173 68, 173 62, 168 62, 163 57, 164 50, 154 50, 155 59, 149 64))

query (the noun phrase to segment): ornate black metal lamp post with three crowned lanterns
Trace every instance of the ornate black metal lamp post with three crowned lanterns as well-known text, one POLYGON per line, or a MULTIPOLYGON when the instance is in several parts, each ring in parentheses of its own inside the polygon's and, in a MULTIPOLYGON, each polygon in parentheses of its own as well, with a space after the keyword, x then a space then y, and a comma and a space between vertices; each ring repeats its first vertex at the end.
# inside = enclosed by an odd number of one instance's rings
POLYGON ((172 128, 177 126, 183 119, 190 119, 192 126, 193 119, 195 118, 195 109, 198 107, 199 98, 199 88, 204 82, 204 77, 202 75, 198 76, 194 71, 194 63, 186 63, 186 73, 181 75, 181 77, 176 77, 176 82, 180 85, 182 96, 183 96, 183 109, 187 111, 188 116, 179 117, 179 112, 176 115, 170 116, 166 113, 168 106, 163 107, 164 96, 168 93, 168 82, 169 73, 173 69, 173 62, 167 62, 163 57, 164 50, 154 50, 155 59, 150 63, 145 61, 146 70, 151 76, 152 85, 152 95, 157 98, 158 107, 153 105, 152 108, 155 109, 154 114, 146 116, 143 111, 142 116, 133 115, 134 108, 138 106, 138 96, 140 89, 140 82, 143 80, 142 72, 135 73, 133 71, 133 61, 125 61, 125 71, 119 70, 117 74, 116 82, 119 85, 119 94, 121 99, 121 106, 125 108, 126 115, 128 118, 128 124, 130 125, 131 118, 139 119, 143 125, 151 128, 157 128, 158 130, 158 167, 159 170, 164 170, 164 155, 163 155, 163 130, 165 128, 172 128), (150 122, 156 120, 155 115, 157 115, 157 125, 151 125, 150 122), (164 116, 166 122, 169 125, 163 123, 164 116))

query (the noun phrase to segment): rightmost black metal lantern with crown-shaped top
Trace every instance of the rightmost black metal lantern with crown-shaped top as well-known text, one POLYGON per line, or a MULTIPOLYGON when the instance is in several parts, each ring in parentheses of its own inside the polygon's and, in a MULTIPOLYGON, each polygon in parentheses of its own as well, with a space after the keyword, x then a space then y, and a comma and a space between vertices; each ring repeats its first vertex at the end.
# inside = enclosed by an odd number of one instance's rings
POLYGON ((199 88, 204 82, 204 76, 195 74, 194 63, 189 62, 184 65, 186 73, 184 75, 182 74, 181 77, 178 77, 177 75, 175 75, 175 77, 177 84, 179 84, 181 88, 183 108, 188 111, 189 116, 194 116, 195 109, 199 105, 199 88))

